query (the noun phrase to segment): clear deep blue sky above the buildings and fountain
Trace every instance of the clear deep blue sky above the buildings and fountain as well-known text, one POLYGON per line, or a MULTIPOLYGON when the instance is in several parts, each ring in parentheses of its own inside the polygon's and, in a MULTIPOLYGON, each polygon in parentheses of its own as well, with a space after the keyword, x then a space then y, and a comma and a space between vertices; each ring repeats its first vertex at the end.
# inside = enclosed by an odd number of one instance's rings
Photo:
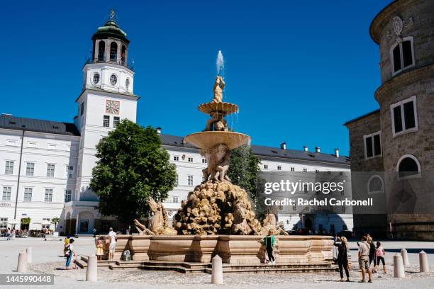
POLYGON ((348 154, 345 121, 377 109, 379 47, 369 1, 8 1, 0 113, 72 122, 91 35, 118 13, 135 61, 140 125, 204 129, 216 55, 226 60, 229 119, 256 145, 348 154), (65 2, 65 3, 63 3, 65 2))

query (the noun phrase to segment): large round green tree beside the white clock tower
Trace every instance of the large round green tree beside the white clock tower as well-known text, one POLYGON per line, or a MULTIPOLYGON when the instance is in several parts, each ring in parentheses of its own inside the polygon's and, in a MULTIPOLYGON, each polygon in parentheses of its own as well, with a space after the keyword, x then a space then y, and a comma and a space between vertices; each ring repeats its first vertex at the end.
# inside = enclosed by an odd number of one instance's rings
POLYGON ((165 200, 176 182, 176 167, 161 147, 154 128, 122 120, 96 146, 99 161, 90 188, 99 196, 99 212, 122 222, 148 214, 148 197, 165 200))

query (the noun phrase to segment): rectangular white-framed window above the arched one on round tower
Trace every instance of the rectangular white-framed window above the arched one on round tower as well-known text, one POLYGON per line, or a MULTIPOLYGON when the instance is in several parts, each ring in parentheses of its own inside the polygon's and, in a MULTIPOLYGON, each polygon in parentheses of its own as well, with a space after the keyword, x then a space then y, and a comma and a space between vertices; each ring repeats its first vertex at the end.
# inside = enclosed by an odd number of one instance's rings
POLYGON ((416 96, 394 103, 390 108, 394 137, 397 134, 418 130, 416 96))

